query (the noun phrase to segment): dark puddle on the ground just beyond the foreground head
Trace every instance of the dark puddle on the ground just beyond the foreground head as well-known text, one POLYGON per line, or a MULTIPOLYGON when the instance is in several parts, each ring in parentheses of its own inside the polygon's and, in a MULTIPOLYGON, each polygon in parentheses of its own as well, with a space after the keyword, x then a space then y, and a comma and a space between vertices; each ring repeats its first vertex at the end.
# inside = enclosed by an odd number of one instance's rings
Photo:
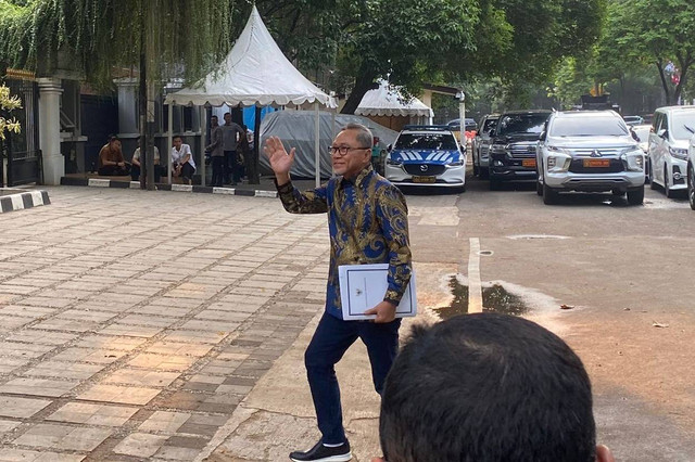
MULTIPOLYGON (((448 319, 468 312, 468 286, 458 282, 456 277, 448 279, 448 287, 454 295, 454 300, 450 306, 434 308, 434 312, 441 319, 448 319)), ((504 286, 493 284, 482 290, 482 310, 501 312, 504 315, 521 316, 529 310, 521 297, 509 293, 504 286)))

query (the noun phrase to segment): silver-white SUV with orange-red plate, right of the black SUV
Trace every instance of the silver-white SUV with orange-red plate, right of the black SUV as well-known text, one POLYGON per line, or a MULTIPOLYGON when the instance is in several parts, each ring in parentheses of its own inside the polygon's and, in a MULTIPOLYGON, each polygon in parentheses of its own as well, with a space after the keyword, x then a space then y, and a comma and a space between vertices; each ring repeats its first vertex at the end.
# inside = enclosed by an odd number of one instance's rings
POLYGON ((644 201, 644 152, 614 111, 551 115, 538 145, 538 193, 554 204, 560 191, 628 194, 644 201))

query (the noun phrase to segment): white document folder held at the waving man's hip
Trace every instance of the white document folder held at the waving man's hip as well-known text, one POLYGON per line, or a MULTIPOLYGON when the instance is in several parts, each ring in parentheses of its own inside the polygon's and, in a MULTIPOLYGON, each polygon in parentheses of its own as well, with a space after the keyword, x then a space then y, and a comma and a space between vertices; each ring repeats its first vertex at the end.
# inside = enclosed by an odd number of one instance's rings
MULTIPOLYGON (((341 265, 338 267, 340 299, 345 321, 376 318, 375 315, 366 316, 364 312, 383 300, 389 287, 388 272, 389 264, 341 265)), ((415 296, 414 271, 395 310, 395 317, 413 317, 416 313, 417 297, 415 296)))

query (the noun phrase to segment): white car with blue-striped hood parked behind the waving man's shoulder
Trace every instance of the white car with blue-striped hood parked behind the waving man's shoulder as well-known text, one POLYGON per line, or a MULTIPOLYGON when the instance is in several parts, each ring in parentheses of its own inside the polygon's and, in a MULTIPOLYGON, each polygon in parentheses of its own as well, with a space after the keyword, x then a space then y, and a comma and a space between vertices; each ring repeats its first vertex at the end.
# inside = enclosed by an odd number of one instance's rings
POLYGON ((447 126, 405 126, 386 157, 396 185, 466 188, 466 151, 447 126))

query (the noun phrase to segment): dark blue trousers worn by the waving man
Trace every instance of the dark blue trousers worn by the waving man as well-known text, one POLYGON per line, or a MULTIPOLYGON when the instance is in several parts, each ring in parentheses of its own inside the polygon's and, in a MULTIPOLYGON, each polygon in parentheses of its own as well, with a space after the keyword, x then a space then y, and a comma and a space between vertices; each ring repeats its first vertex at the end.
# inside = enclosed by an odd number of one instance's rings
POLYGON ((370 321, 343 321, 324 313, 304 354, 306 375, 324 442, 338 445, 345 441, 340 388, 333 367, 348 348, 361 338, 367 346, 374 387, 381 394, 383 382, 399 352, 400 326, 400 319, 388 324, 376 324, 370 321))

